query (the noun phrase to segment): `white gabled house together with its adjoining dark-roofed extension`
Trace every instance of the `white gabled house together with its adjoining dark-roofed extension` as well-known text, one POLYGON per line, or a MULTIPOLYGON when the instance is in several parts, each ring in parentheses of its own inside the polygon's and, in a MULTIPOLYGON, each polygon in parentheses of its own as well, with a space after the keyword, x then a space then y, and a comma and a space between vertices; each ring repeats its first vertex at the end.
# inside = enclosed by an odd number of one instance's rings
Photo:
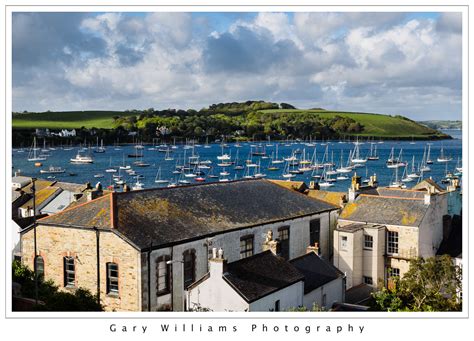
POLYGON ((188 287, 188 310, 311 310, 344 301, 344 274, 323 260, 317 247, 287 261, 278 256, 277 240, 266 244, 269 249, 232 263, 213 248, 209 272, 188 287))

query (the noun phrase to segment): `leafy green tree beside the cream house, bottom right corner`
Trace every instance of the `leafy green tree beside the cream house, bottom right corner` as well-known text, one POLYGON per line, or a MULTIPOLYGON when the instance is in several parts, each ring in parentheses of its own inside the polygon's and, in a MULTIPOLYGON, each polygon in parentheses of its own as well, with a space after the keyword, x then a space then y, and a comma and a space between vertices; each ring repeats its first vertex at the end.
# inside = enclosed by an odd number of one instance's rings
POLYGON ((390 288, 373 294, 375 310, 459 311, 461 268, 448 255, 417 258, 410 270, 390 288))

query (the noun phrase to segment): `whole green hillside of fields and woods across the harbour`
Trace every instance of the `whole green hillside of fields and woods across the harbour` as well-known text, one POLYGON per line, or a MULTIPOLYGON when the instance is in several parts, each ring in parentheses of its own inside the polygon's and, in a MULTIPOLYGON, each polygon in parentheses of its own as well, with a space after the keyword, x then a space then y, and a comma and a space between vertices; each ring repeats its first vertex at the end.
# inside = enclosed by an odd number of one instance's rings
MULTIPOLYGON (((285 104, 285 107, 289 106, 285 104)), ((68 111, 14 113, 14 129, 104 128, 140 131, 156 136, 158 127, 183 138, 272 139, 340 138, 370 136, 374 138, 437 139, 449 136, 403 116, 373 113, 328 111, 324 109, 281 109, 283 105, 264 101, 213 104, 200 111, 166 109, 156 111, 68 111), (279 109, 280 108, 280 109, 279 109), (240 132, 240 133, 237 133, 240 132)))

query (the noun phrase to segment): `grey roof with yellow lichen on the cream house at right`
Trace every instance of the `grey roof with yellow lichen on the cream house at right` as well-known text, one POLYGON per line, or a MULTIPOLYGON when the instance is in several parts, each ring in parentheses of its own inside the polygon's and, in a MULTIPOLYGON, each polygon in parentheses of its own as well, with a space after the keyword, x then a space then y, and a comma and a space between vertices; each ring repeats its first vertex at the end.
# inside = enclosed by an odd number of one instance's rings
POLYGON ((359 195, 339 218, 383 225, 419 226, 429 208, 423 199, 359 195))

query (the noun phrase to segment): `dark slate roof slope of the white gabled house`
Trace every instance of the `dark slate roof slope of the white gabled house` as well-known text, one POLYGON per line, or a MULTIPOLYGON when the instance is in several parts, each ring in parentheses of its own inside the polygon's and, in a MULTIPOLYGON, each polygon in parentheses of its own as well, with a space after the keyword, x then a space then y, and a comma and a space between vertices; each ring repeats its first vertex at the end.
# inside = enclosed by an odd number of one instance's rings
POLYGON ((293 265, 271 251, 229 263, 222 277, 248 303, 304 279, 293 265))

